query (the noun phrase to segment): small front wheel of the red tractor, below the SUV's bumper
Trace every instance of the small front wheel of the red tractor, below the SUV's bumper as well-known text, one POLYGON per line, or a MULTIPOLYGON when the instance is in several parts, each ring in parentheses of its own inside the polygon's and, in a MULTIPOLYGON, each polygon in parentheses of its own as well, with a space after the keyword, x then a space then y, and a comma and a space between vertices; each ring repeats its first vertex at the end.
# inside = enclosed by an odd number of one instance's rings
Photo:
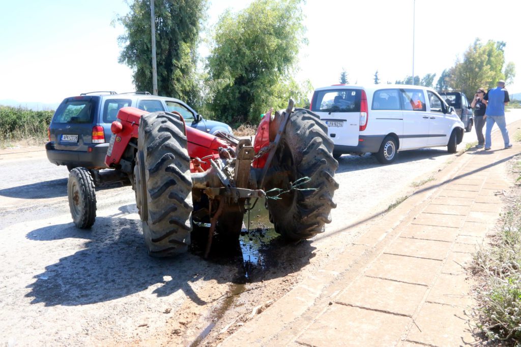
POLYGON ((72 221, 80 229, 88 229, 96 220, 96 191, 94 179, 89 170, 73 168, 67 181, 72 221))

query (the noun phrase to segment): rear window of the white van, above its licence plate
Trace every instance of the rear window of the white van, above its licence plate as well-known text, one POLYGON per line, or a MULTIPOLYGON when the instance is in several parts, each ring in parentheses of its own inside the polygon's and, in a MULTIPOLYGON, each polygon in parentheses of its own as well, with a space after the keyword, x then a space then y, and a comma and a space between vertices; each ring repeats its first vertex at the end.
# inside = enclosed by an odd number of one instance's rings
POLYGON ((326 89, 313 96, 315 112, 360 112, 362 89, 326 89))

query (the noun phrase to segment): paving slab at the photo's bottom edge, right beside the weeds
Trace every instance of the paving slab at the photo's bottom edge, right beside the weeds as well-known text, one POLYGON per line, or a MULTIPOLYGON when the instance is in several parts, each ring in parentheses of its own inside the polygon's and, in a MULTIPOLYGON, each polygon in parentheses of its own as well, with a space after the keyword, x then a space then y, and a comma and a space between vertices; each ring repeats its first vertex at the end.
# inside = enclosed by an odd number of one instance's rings
POLYGON ((406 341, 430 346, 479 345, 481 340, 474 336, 469 327, 469 318, 462 307, 426 303, 406 341))

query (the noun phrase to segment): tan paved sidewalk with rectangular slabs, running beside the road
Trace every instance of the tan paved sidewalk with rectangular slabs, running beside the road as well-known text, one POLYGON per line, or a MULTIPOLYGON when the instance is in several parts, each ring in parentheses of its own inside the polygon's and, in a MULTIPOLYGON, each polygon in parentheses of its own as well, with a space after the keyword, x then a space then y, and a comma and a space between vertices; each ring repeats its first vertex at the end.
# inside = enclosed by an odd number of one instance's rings
POLYGON ((503 150, 500 132, 492 144, 457 157, 222 345, 480 344, 465 266, 499 218, 513 185, 506 162, 521 152, 503 150))

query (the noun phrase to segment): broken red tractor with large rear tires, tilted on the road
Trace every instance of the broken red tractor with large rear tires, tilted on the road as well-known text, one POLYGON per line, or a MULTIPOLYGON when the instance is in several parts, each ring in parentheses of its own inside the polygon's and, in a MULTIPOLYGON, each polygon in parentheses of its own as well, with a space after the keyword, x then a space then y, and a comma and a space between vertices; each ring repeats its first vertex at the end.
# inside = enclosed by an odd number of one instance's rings
POLYGON ((331 222, 338 183, 333 143, 309 110, 270 109, 254 144, 226 133, 187 127, 177 112, 125 107, 111 126, 108 173, 73 169, 68 196, 80 228, 96 217, 94 183, 127 181, 135 190, 148 253, 187 251, 194 224, 209 226, 206 255, 216 230, 237 240, 251 201, 266 199, 270 221, 283 237, 311 238, 331 222))

